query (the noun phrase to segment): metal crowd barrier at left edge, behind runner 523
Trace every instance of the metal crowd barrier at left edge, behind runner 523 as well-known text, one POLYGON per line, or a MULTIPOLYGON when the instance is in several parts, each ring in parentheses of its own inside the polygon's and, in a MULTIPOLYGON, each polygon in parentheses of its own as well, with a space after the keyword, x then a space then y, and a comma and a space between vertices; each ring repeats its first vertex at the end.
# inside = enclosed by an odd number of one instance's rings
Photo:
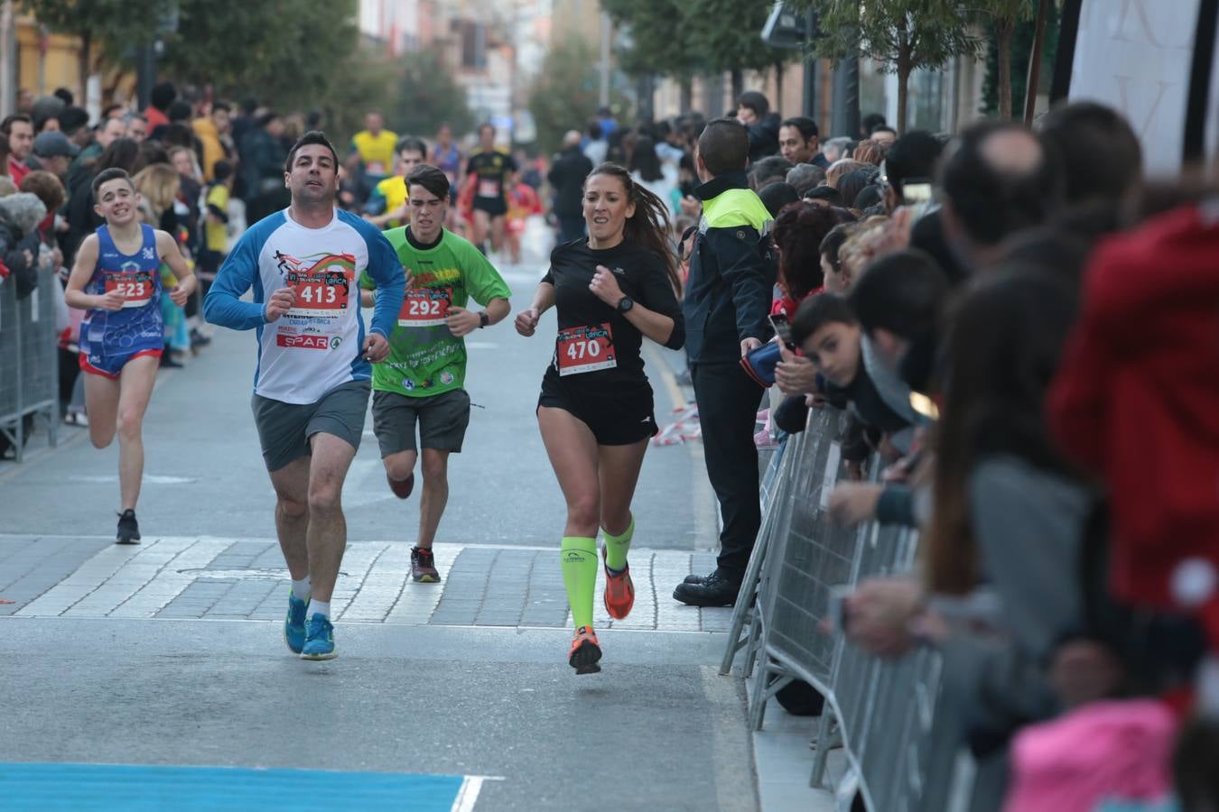
POLYGON ((17 299, 17 286, 0 285, 0 433, 12 443, 17 461, 26 444, 26 416, 45 418, 51 446, 59 429, 59 336, 51 270, 38 274, 38 287, 17 299))

